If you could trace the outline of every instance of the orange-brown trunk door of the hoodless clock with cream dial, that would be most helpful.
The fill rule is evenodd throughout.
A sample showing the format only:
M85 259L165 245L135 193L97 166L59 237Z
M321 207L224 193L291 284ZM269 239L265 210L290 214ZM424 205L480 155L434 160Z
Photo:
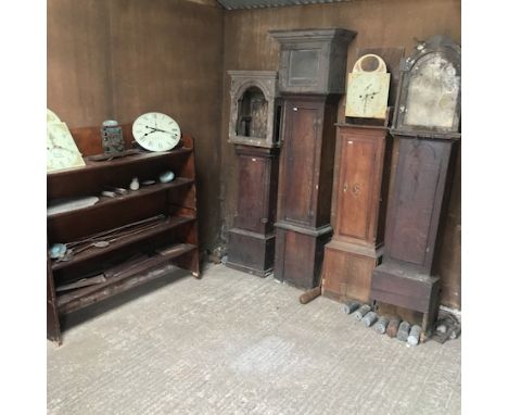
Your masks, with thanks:
M372 141L344 136L343 174L339 187L339 232L367 240L371 222L376 179L376 150Z

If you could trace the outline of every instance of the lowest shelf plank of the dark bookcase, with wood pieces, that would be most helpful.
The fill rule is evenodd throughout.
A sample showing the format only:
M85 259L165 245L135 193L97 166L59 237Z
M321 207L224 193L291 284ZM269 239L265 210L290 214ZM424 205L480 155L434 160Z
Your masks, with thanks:
M73 292L58 295L56 303L59 314L66 314L82 309L109 297L126 291L132 287L144 284L149 280L161 277L161 274L152 274L150 271L160 267L165 263L170 263L178 256L189 253L198 248L193 244L178 243L172 247L172 252L167 254L156 254L150 257L141 257L132 266L124 272L107 277L102 284L74 290ZM145 274L148 273L148 274ZM107 271L104 273L107 275Z

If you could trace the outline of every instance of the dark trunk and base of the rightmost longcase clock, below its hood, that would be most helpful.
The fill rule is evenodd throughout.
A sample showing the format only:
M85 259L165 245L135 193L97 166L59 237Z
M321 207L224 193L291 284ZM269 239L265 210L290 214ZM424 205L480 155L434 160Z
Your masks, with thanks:
M443 232L457 141L394 135L399 142L396 176L383 263L372 273L371 299L423 313L427 331L440 304L434 254Z

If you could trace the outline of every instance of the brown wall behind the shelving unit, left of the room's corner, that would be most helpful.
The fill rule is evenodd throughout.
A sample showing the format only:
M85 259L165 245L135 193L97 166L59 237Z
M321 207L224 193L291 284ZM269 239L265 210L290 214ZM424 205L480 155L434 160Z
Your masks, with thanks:
M69 127L174 117L195 138L203 248L219 227L223 30L199 2L48 0L48 108Z

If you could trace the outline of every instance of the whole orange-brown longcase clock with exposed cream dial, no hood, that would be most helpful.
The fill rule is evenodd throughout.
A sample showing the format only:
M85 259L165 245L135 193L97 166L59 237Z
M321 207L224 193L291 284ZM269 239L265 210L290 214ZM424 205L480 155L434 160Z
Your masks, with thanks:
M366 61L370 61L368 70L361 66ZM336 125L334 232L325 247L321 290L338 300L369 301L372 269L381 261L388 190L383 171L388 171L390 151L385 156L385 150L391 144L384 126L389 80L386 64L379 55L358 59L347 85L347 124Z

